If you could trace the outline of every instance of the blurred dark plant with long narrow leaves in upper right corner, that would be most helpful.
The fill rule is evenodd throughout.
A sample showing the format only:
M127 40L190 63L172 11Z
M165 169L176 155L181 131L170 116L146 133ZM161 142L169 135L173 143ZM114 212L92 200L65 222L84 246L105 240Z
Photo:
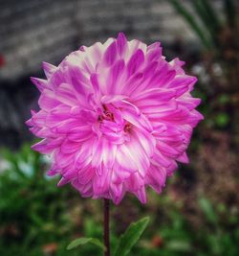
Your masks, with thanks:
M201 60L206 71L203 79L208 76L207 85L210 89L237 92L239 15L236 0L218 1L222 3L221 8L215 8L216 1L209 0L187 1L187 5L182 0L169 2L203 46ZM227 122L224 116L219 117L217 123L225 126Z

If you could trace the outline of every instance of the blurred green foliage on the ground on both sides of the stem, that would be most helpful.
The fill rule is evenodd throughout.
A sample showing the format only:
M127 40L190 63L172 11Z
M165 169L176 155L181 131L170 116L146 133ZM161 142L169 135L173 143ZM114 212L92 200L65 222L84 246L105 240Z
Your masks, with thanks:
M100 255L100 248L91 244L66 250L67 244L80 236L102 239L96 218L101 218L98 201L81 200L70 186L57 188L57 181L44 175L46 159L28 145L15 153L2 151L2 155L6 170L0 173L0 255ZM208 199L199 198L204 224L195 227L182 214L184 205L166 195L150 193L149 197L156 197L158 207L166 209L166 219L151 216L149 228L130 255L239 255L238 219L227 212L223 203L215 207ZM87 208L88 202L96 214L72 213L77 204ZM133 200L132 207L141 208L141 204ZM117 229L118 223L112 220L113 251L119 241Z

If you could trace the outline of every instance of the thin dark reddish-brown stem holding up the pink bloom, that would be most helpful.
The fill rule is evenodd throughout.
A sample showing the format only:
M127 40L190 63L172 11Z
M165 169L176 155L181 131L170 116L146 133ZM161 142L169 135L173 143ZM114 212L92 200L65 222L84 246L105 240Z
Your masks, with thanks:
M104 199L104 256L110 256L110 200Z

